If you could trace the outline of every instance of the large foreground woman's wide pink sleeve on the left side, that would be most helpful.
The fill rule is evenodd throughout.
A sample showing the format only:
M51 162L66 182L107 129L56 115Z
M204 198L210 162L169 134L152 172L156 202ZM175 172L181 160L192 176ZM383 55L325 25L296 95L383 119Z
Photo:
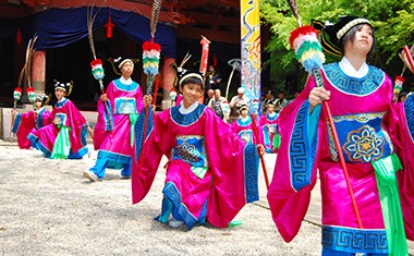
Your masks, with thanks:
M297 99L280 112L281 145L267 199L272 219L284 241L297 234L316 183L317 127L320 106L309 114L308 96L315 86L309 77ZM319 129L320 131L320 129Z

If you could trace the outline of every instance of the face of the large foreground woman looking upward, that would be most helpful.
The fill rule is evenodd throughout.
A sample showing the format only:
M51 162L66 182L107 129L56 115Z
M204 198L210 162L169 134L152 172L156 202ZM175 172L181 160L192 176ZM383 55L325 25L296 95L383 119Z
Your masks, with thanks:
M360 26L355 32L353 40L345 42L345 52L353 51L362 54L368 54L374 44L374 32L368 24Z

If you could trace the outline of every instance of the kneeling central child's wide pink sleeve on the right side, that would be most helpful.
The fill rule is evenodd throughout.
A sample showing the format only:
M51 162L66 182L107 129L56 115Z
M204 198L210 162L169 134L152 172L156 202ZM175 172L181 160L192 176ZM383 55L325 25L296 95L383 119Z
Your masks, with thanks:
M257 148L243 142L210 109L206 109L205 115L206 149L212 174L208 221L226 228L245 204L258 199Z

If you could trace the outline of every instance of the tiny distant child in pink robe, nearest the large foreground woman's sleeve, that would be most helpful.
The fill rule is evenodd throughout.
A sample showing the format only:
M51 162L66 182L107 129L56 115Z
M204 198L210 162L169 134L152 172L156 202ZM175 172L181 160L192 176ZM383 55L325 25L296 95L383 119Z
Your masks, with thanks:
M280 135L278 127L279 114L275 112L276 102L269 100L266 107L266 114L260 117L260 127L263 127L264 145L266 153L278 153Z

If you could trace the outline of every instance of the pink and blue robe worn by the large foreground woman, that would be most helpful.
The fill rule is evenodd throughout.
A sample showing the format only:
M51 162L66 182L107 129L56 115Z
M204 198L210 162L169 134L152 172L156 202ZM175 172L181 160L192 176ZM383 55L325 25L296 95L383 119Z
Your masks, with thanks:
M306 87L281 111L281 145L268 191L272 219L282 237L290 242L299 232L309 206L310 192L319 170L322 199L322 246L348 253L385 253L387 240L376 173L372 164L397 154L403 169L397 172L407 239L414 239L413 97L397 106L392 81L369 66L363 78L345 75L338 63L324 65L322 80L330 90L328 101L343 151L351 186L363 228L351 204L344 172L328 132L321 106L309 114ZM409 113L404 115L403 113Z

